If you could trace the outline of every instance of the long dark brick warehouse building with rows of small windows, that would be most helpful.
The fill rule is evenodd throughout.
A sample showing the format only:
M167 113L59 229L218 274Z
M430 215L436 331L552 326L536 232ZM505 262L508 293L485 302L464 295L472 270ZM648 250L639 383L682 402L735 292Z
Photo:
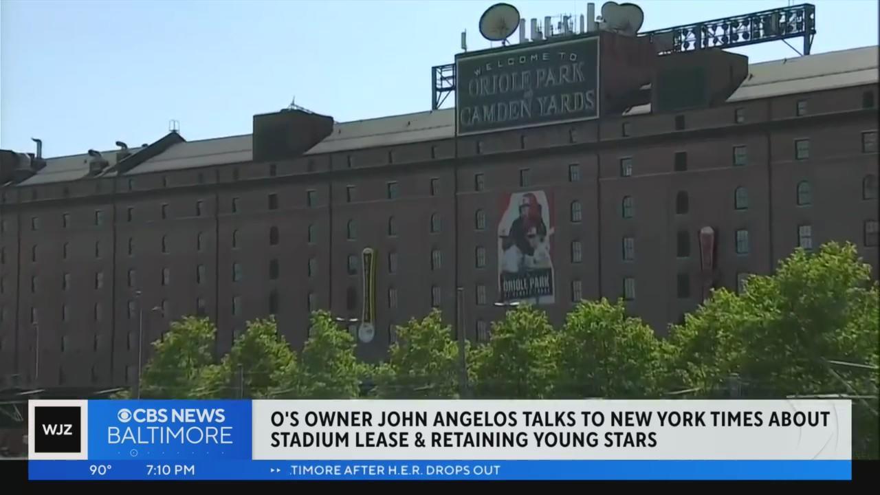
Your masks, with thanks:
M216 321L217 351L268 314L300 348L311 309L363 318L365 247L363 358L432 306L455 321L457 286L466 335L485 339L505 311L502 217L532 191L553 262L553 302L534 300L555 323L576 300L624 297L662 335L704 286L737 288L828 240L855 242L876 276L877 47L744 79L708 106L473 135L457 135L455 109L342 123L290 110L255 116L253 135L0 151L0 386L131 384L139 326L150 342L185 314Z

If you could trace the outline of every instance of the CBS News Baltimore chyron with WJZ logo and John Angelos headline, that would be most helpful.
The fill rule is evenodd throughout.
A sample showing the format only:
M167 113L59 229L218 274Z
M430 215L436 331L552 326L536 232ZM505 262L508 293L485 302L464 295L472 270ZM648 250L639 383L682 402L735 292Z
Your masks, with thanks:
M32 480L848 480L844 400L31 401Z

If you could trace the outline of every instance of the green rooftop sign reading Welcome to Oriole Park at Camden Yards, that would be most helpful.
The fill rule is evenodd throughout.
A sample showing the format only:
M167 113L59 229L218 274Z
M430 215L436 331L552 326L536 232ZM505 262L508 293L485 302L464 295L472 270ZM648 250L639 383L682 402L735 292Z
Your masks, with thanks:
M598 36L456 56L458 134L598 117Z

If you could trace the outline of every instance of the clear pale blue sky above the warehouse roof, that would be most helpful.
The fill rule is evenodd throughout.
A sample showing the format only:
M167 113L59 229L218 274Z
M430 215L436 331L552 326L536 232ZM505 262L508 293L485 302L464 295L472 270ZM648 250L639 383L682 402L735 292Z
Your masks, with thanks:
M586 1L508 0L524 18ZM482 0L2 0L0 147L46 156L246 134L254 114L297 104L337 121L430 109L430 68L451 63ZM597 14L603 2L596 2ZM761 11L787 0L642 0L642 31ZM877 43L876 0L815 0L813 53ZM517 39L517 35L514 36ZM789 41L800 49L799 40ZM736 50L797 56L781 41Z

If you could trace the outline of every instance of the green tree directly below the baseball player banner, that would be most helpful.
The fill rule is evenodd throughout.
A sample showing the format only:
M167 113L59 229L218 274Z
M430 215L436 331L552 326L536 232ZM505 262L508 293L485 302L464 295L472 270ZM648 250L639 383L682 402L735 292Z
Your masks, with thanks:
M474 391L488 398L552 394L557 345L543 311L521 305L492 324L488 344L473 353Z

